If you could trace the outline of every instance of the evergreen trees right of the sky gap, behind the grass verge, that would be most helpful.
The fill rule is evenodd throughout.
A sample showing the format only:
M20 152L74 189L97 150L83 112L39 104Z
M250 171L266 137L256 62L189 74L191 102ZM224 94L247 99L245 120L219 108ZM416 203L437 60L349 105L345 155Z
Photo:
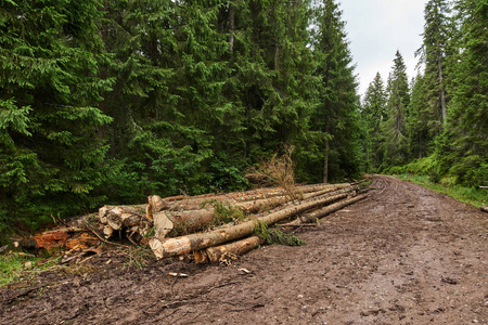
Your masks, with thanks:
M423 46L416 53L424 70L409 94L397 53L388 80L383 170L423 173L434 182L488 185L487 23L486 1L426 3ZM362 108L367 152L376 139L369 117L371 93L369 89Z

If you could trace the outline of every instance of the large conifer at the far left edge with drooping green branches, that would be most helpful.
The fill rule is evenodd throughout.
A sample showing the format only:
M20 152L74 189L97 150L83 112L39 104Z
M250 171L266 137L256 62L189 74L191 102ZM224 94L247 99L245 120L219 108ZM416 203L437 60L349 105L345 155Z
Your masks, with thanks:
M0 223L93 207L107 150L95 131L111 121L100 3L0 1Z

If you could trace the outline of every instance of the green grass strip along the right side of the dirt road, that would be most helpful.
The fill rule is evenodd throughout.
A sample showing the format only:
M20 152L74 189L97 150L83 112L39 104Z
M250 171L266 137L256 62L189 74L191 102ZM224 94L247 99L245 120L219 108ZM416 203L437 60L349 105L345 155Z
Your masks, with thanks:
M447 194L460 202L471 204L475 207L488 205L488 190L463 187L453 184L449 179L445 179L442 183L433 183L428 177L420 174L402 173L395 177L401 180L408 180L415 184L423 185L433 191Z

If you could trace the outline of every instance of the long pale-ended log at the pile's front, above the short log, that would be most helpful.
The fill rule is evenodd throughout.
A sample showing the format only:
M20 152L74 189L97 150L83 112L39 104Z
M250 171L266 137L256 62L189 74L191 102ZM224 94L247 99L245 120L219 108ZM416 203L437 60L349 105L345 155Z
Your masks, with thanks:
M294 205L283 210L270 213L265 217L256 218L241 224L217 229L207 233L190 234L176 238L165 239L153 237L149 240L149 244L157 259L177 255L184 255L191 251L202 250L211 246L246 237L254 232L257 222L265 222L266 224L270 225L298 213L303 213L307 210L323 207L331 202L334 202L335 199L337 199L335 196L321 197L320 199Z

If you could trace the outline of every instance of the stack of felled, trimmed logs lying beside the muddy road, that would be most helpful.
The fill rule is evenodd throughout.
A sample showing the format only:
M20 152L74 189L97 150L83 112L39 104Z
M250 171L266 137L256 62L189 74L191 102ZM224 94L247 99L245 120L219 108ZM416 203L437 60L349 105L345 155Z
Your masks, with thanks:
M158 258L193 253L196 262L217 262L264 244L259 223L297 226L317 222L365 197L357 184L318 184L200 196L149 196L139 206L104 206L98 219L105 238L124 234L149 245ZM227 218L221 218L222 211Z

